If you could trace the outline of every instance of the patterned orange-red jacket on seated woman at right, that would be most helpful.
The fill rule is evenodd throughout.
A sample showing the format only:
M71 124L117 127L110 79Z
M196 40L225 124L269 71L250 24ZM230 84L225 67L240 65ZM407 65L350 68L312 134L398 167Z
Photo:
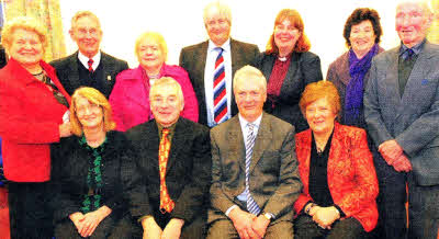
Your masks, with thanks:
M302 212L309 196L311 129L295 135L299 172L303 192L294 203L296 214ZM328 159L328 186L333 201L346 214L354 217L365 231L376 226L375 198L379 187L372 153L365 132L361 128L335 124Z

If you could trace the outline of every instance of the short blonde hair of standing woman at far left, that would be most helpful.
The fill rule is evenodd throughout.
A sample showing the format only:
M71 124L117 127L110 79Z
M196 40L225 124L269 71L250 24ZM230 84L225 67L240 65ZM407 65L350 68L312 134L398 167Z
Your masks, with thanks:
M9 52L9 48L11 47L13 33L18 29L36 33L40 42L43 45L43 50L45 50L47 45L47 36L46 30L43 27L43 25L36 19L30 16L19 16L8 21L1 31L1 44L7 52Z

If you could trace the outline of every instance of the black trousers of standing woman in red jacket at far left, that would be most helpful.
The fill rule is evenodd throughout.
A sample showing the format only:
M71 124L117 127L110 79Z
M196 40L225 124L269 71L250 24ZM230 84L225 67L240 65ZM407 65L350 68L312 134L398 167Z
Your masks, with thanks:
M8 190L11 239L50 239L49 184L9 182Z

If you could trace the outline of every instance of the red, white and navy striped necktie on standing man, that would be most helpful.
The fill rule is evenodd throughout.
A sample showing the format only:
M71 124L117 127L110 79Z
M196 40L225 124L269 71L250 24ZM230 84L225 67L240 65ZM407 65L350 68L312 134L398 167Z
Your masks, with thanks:
M226 79L224 68L223 48L216 47L218 56L215 60L215 70L213 73L213 112L216 124L228 120L227 116L227 95L226 95Z

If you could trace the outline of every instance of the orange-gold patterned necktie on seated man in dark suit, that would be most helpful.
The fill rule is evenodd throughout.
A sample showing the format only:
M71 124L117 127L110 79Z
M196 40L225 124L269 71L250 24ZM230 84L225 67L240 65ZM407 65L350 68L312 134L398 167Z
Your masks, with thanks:
M161 139L158 148L158 166L160 172L160 212L166 214L170 213L176 205L169 196L168 189L166 187L166 166L168 163L168 156L170 150L170 141L168 139L169 128L161 130Z

